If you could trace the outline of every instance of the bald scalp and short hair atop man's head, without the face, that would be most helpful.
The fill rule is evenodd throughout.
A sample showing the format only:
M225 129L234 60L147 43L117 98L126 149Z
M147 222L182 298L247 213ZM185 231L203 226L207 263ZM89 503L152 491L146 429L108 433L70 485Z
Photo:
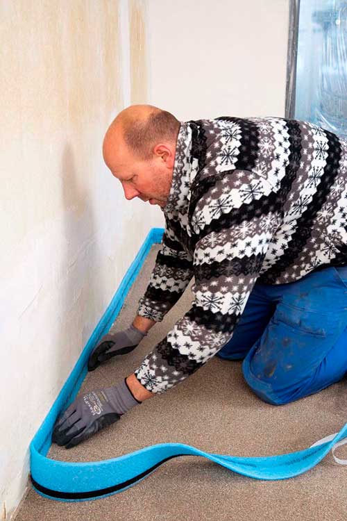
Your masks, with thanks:
M174 115L153 105L131 105L117 115L105 134L107 142L124 142L140 160L150 160L160 142L175 143L180 122Z

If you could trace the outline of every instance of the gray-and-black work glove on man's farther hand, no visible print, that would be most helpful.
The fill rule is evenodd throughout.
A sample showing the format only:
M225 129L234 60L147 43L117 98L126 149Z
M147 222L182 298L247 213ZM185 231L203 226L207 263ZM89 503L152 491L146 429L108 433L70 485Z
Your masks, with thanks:
M112 356L130 353L139 345L146 334L131 325L125 331L104 335L89 357L88 371L94 371L96 367Z

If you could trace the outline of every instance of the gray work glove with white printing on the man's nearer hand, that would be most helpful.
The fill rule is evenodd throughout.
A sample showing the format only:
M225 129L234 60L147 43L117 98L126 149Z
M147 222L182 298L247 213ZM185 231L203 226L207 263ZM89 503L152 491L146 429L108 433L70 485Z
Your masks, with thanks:
M97 389L77 397L53 426L52 441L75 447L104 427L117 422L135 405L142 404L132 394L126 379L118 386Z

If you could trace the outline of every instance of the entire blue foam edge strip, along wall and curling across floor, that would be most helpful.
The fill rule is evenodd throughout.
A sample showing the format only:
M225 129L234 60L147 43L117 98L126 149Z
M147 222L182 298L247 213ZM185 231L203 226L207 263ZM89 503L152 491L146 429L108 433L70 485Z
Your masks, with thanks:
M126 294L141 269L151 245L160 243L163 233L164 229L150 231L135 261L126 272L119 290L78 358L74 370L60 391L56 402L31 442L31 481L33 488L43 497L64 502L108 497L139 483L144 477L152 474L159 465L176 456L204 456L229 470L255 479L287 479L310 470L328 454L338 440L347 437L346 423L330 442L298 452L275 456L244 457L209 454L182 443L162 443L102 461L80 463L46 458L51 446L51 433L56 417L78 394L87 373L87 360L90 352L99 338L109 331L110 326L115 322ZM69 496L72 499L69 499Z

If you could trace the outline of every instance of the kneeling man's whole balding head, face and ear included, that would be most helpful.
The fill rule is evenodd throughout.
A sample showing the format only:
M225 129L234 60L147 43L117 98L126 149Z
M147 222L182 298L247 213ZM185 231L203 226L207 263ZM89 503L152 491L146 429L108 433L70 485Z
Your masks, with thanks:
M126 199L139 197L164 208L179 131L176 117L152 105L132 105L113 120L103 140L103 159Z

